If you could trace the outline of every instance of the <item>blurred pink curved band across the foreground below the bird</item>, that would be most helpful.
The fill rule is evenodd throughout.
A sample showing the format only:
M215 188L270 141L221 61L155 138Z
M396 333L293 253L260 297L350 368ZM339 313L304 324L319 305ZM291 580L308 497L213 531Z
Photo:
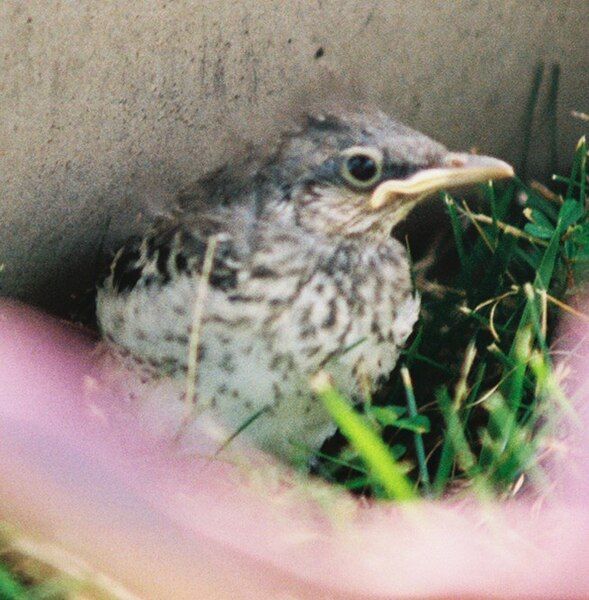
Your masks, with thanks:
M363 506L278 465L258 483L155 447L83 393L94 345L0 307L0 520L138 596L589 597L586 410L541 507Z

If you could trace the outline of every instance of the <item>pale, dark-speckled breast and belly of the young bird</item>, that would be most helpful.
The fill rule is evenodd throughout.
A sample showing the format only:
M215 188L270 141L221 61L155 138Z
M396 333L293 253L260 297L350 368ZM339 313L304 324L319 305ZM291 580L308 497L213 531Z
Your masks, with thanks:
M316 448L333 433L310 390L315 373L326 370L358 397L395 366L419 309L395 244L319 252L286 241L278 251L273 243L238 273L235 287L208 289L200 323L198 276L125 293L107 286L98 297L101 328L133 368L178 382L169 401L176 407L196 331L198 402L227 435L255 417L248 435L290 457L297 444Z

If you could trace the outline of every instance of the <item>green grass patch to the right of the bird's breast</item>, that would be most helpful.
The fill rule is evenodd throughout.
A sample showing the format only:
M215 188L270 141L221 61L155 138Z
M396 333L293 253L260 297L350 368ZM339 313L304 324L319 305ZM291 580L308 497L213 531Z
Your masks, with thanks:
M342 432L318 455L320 475L398 500L542 488L553 416L572 410L551 352L556 326L565 312L589 321L574 304L589 266L584 139L553 184L489 183L476 209L444 194L450 239L433 268L416 264L422 317L390 385L355 407L320 390Z

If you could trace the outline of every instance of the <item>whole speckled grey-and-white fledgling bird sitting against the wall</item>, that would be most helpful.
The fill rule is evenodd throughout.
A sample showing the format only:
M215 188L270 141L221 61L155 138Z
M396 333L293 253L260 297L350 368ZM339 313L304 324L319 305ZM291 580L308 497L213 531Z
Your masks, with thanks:
M361 400L418 319L392 229L436 192L512 176L502 160L452 152L379 110L307 114L124 243L98 287L99 329L142 381L186 390L192 377L197 414L228 439L239 432L300 462L336 429L311 379L327 373ZM178 407L186 393L160 402Z

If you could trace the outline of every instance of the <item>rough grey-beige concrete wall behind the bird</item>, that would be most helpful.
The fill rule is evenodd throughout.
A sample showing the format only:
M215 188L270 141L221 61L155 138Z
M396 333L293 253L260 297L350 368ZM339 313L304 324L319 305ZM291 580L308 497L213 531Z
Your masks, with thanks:
M588 18L564 0L3 0L2 293L59 306L102 238L325 90L517 163L534 70L558 64L556 139L546 77L531 172L555 151L564 167L586 125L569 113L589 109Z

